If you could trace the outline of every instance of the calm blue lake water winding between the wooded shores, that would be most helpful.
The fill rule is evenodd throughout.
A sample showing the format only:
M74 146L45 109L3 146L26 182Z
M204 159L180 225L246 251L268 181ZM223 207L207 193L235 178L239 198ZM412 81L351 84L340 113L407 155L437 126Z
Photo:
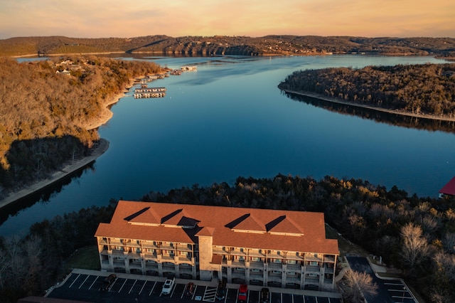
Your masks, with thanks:
M100 127L110 147L93 169L49 201L9 216L0 235L22 233L34 222L83 207L107 205L109 198L137 200L149 191L232 183L237 176L331 175L436 197L455 175L453 133L341 115L291 100L277 88L294 70L441 60L351 55L147 60L169 68L197 64L198 71L150 83L167 88L164 98L123 97L112 107L114 117Z

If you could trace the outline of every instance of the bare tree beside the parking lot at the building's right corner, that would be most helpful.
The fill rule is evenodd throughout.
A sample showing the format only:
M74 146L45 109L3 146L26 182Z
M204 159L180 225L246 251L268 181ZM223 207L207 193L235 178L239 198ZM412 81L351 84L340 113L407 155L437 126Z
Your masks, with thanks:
M365 297L373 297L378 294L378 285L366 272L348 270L344 277L343 281L346 282L346 285L343 287L343 299L346 302L365 302Z

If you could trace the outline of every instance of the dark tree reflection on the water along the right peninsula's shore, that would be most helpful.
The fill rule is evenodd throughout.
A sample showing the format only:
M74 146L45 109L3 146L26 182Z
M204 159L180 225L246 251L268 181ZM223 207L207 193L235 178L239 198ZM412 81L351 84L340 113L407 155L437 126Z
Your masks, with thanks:
M363 119L374 120L375 122L390 124L399 127L406 127L411 129L424 129L432 132L441 131L448 133L455 133L455 122L444 121L436 119L426 119L420 117L410 117L405 115L397 115L389 112L379 112L377 110L370 110L364 107L355 107L352 105L343 105L335 102L328 102L314 97L296 95L291 92L283 92L284 95L291 100L304 102L308 105L321 107L324 110L331 112L338 112L343 115L350 115L361 117Z

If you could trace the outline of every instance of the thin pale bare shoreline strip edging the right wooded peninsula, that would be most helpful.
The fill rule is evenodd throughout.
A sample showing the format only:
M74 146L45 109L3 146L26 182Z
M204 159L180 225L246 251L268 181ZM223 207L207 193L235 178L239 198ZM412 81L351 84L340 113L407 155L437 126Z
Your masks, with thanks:
M441 120L441 121L449 121L449 122L455 122L455 118L450 118L450 117L444 117L444 116L436 116L436 115L426 115L426 114L413 114L412 112L406 112L404 110L388 110L387 108L383 107L374 107L370 105L363 105L360 103L355 103L355 102L349 102L349 101L344 101L335 97L327 97L324 95L317 94L316 92L299 92L296 90L287 90L287 89L282 89L280 90L284 92L289 92L294 95L301 95L305 97L313 97L319 100L327 101L327 102L333 102L333 103L338 103L342 105L350 105L350 106L355 106L355 107L362 107L366 108L368 110L375 110L378 112L387 112L389 114L395 114L395 115L402 115L402 116L407 116L407 117L415 117L415 118L422 118L422 119L433 119L433 120Z

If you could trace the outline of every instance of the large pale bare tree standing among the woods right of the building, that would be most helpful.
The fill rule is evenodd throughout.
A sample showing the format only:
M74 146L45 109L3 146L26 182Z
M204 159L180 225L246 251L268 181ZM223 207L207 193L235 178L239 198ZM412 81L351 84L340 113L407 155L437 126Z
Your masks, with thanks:
M429 255L430 246L423 236L422 228L414 223L407 223L400 230L402 237L401 257L405 265L414 270Z

